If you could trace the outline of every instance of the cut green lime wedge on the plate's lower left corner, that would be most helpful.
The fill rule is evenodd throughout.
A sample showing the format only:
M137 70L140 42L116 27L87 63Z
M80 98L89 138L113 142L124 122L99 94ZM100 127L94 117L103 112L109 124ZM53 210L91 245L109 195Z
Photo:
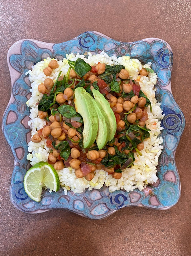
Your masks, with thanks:
M60 187L57 171L45 162L31 167L25 174L23 183L25 192L36 202L40 202L43 187L49 188L49 192L58 191Z

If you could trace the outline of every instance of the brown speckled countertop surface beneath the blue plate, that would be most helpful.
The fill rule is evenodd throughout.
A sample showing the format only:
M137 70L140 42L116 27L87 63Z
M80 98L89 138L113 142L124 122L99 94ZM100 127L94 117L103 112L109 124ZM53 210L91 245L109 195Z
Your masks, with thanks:
M186 128L176 151L182 193L169 210L126 207L103 220L89 220L66 210L26 214L9 199L13 155L1 134L0 255L190 256L191 5L187 0L2 0L0 4L0 117L11 95L6 62L20 39L59 43L95 30L115 40L161 38L174 56L172 93L185 114Z

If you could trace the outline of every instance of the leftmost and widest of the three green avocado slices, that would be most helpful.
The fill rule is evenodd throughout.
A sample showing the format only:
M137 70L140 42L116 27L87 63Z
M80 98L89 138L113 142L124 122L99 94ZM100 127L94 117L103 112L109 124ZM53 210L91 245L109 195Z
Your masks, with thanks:
M83 118L83 148L89 148L96 139L98 129L98 119L92 96L83 87L78 87L74 91L74 104L76 112Z

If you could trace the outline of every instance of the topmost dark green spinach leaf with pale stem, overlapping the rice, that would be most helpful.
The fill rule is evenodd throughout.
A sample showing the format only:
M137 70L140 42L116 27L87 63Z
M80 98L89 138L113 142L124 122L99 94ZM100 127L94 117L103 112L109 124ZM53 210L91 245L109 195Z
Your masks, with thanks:
M86 63L83 59L78 58L76 61L69 60L68 64L75 70L78 76L82 77L91 70L91 66Z

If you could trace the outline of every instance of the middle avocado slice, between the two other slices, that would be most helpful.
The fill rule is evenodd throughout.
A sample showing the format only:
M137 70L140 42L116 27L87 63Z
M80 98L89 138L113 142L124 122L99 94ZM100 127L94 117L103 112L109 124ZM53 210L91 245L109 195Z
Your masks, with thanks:
M97 147L99 149L102 149L105 147L106 143L108 142L109 135L110 135L109 119L106 113L103 111L101 104L95 99L92 99L92 100L93 100L94 107L97 112L97 118L98 118L98 130L97 130L96 143L97 143Z

